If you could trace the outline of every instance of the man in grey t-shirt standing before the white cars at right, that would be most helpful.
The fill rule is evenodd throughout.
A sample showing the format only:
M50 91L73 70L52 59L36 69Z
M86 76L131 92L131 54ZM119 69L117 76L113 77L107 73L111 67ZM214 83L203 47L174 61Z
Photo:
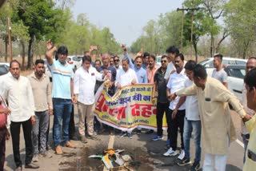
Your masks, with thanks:
M218 79L218 81L222 82L223 85L227 88L227 74L226 71L222 69L222 54L214 55L214 71L212 74L212 78Z

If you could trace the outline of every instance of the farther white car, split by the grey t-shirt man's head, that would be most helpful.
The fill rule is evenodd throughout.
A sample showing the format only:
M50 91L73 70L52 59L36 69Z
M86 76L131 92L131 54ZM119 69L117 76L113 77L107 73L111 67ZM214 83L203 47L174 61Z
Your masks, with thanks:
M246 66L246 59L239 59L239 58L222 58L222 66L227 65L244 65ZM206 58L204 61L199 62L202 66L206 68L207 75L211 77L214 70L214 58Z

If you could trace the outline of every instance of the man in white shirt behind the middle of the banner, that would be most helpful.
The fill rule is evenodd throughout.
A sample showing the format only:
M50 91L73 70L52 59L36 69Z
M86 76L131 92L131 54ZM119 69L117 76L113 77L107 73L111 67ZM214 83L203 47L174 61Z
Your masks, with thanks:
M130 60L129 58L123 58L122 59L122 70L120 70L117 80L116 80L116 85L118 89L122 89L123 86L126 85L134 85L138 83L138 78L134 70L130 69ZM128 136L129 138L132 138L132 133L131 131L122 132L118 137L125 137Z

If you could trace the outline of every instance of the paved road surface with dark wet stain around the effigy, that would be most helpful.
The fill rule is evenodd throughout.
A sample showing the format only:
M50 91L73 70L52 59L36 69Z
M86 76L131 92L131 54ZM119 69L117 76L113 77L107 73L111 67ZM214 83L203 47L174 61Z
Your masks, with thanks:
M241 141L240 132L240 119L238 115L234 112L231 113L234 125L237 129L238 140ZM52 121L53 118L51 118ZM78 115L76 115L75 120L78 121ZM51 124L52 125L52 124ZM87 144L82 144L80 141L72 141L77 145L77 149L63 148L64 154L62 156L55 155L52 158L39 158L38 165L43 171L55 171L55 170L103 170L103 164L98 159L89 159L88 156L95 153L102 153L103 149L107 149L108 146L114 149L125 149L123 154L129 154L134 161L131 163L134 170L188 170L189 167L180 167L175 165L177 157L163 157L162 153L166 152L165 141L151 141L152 135L146 135L142 133L140 136L134 135L133 139L128 139L128 137L119 138L115 136L110 136L108 133L103 133L98 135L98 140L89 140ZM50 132L50 137L52 133ZM166 133L165 133L166 140ZM6 170L14 170L14 158L12 154L11 140L6 143ZM240 143L241 144L241 143ZM52 139L50 138L50 145L52 145ZM179 145L179 141L178 141ZM191 141L191 155L194 159L194 143ZM20 149L22 151L22 161L25 158L25 149L23 136L21 134L21 145ZM50 149L51 153L54 153ZM202 154L204 152L202 151ZM242 155L243 148L238 142L234 141L230 145L230 153L228 157L228 163L226 170L237 171L242 170ZM81 161L77 160L81 156ZM203 155L202 155L203 160ZM77 166L78 165L78 166ZM80 169L78 169L80 168ZM26 169L23 169L26 170Z

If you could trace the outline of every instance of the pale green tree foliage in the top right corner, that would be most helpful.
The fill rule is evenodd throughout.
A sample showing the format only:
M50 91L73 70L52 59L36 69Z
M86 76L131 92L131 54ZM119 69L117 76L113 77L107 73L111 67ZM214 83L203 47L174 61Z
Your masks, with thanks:
M235 50L246 58L256 38L256 8L254 0L230 0L226 5L225 22L234 41Z

